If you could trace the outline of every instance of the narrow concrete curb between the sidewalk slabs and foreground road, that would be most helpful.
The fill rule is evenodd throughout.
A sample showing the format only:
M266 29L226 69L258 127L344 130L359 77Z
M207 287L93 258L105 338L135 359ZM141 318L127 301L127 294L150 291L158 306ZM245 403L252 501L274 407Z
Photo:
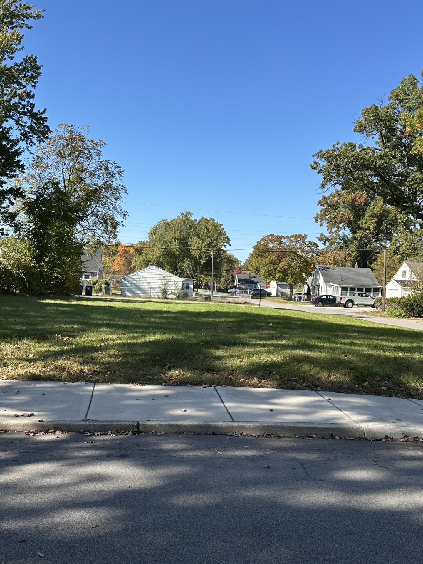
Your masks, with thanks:
M39 429L60 429L80 433L81 431L139 431L141 433L199 433L228 434L245 433L247 435L281 435L284 437L357 437L362 439L381 439L390 437L401 439L404 434L423 438L423 427L407 427L384 424L339 425L331 423L298 423L267 421L25 421L0 420L0 429L6 431L30 431Z

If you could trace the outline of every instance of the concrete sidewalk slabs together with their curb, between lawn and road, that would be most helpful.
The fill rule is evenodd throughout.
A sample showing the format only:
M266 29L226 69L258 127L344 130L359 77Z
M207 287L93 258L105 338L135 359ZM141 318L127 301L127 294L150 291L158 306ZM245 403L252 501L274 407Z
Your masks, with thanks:
M54 427L423 438L423 400L226 386L0 380L0 429Z

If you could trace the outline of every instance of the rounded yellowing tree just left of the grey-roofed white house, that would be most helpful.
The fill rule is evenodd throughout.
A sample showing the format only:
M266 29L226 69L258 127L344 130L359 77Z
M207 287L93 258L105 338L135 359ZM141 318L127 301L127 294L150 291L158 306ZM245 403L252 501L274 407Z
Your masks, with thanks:
M316 264L319 245L307 235L265 235L253 247L251 267L264 280L283 281L289 285L303 284Z

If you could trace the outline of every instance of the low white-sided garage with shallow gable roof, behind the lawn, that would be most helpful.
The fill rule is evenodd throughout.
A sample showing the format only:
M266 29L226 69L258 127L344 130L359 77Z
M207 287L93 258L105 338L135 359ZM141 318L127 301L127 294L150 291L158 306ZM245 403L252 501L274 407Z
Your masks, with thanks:
M131 274L123 276L121 280L122 296L161 298L165 289L169 298L182 289L187 291L188 296L192 296L194 281L192 278L180 278L152 265L143 268L143 270L131 272Z

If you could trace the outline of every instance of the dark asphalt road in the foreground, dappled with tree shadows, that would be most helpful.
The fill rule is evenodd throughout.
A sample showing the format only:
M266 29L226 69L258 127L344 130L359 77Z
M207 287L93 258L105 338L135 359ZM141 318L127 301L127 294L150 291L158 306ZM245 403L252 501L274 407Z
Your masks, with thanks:
M420 563L422 462L411 443L7 433L0 562Z

